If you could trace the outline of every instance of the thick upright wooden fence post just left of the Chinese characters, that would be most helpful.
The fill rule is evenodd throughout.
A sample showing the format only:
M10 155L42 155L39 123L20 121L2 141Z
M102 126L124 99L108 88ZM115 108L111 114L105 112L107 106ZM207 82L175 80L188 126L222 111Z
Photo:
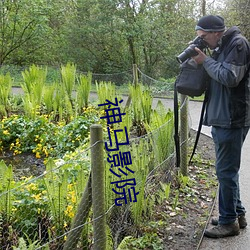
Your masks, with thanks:
M105 183L103 130L90 127L94 250L106 249Z

